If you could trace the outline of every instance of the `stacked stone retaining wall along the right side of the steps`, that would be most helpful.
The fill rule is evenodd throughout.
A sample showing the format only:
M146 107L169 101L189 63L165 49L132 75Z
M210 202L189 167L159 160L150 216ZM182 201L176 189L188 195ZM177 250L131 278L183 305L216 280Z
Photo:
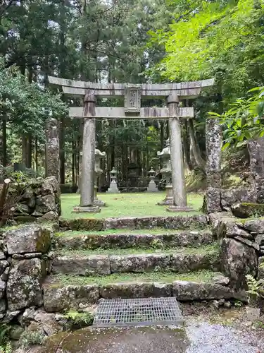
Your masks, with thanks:
M246 286L246 275L264 280L258 264L264 261L264 219L239 220L216 213L210 215L213 234L220 239L222 273L234 289Z

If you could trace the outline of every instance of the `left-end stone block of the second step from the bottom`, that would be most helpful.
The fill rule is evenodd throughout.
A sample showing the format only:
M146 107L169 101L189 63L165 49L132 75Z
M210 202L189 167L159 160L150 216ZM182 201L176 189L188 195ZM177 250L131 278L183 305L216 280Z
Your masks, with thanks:
M56 256L52 265L53 273L65 275L110 275L108 256Z

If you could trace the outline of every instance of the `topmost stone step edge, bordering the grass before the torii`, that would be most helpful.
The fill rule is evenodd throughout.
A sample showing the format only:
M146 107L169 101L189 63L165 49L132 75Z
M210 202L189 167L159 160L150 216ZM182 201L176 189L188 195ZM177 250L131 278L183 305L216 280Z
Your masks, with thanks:
M105 229L204 229L208 227L206 215L176 215L165 217L120 217L120 218L61 218L59 225L65 230L105 230Z

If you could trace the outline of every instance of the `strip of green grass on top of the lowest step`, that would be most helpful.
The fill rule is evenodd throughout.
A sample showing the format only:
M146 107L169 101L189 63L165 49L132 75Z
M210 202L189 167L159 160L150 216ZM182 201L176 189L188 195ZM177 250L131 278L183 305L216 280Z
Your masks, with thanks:
M122 282L161 282L172 283L177 280L190 282L210 282L215 273L209 270L201 270L191 273L176 274L172 272L149 272L149 273L114 273L103 277L82 277L71 275L54 275L48 278L45 285L63 286L63 285L109 285Z

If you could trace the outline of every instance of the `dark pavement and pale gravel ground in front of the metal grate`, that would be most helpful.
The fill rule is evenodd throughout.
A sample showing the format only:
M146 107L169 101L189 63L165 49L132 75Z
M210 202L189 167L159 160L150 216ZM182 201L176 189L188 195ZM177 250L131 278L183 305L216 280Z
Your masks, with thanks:
M85 328L49 339L39 353L264 353L264 330L188 317L181 328Z

